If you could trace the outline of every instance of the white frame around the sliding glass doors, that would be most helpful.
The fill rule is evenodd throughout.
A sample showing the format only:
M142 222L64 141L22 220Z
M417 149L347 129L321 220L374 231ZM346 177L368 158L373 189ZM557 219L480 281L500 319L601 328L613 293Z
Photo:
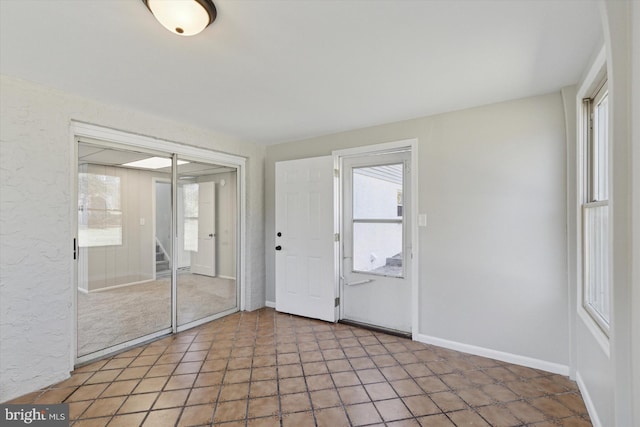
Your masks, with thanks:
M90 355L79 358L78 357L78 341L77 341L77 311L78 311L78 298L77 298L77 288L78 288L78 274L77 274L77 256L79 253L79 248L77 246L78 242L78 203L77 200L74 200L74 197L78 194L78 141L81 139L88 140L96 140L97 142L102 143L105 146L114 146L120 148L132 148L132 149L143 149L150 152L164 152L172 154L174 164L177 162L178 156L181 157L190 157L194 159L201 160L203 162L215 163L222 166L227 166L236 169L236 200L237 200L237 212L236 212L236 301L238 301L238 310L243 311L245 309L245 301L246 301L246 288L244 283L244 277L246 276L246 263L245 263L245 251L246 251L246 162L247 159L245 157L235 156L232 154L222 153L218 151L207 150L204 148L198 148L190 145L184 145L178 142L172 142L164 139L154 138L151 136L138 135L130 132L125 132L117 129L111 129L104 126L98 126L90 123L80 122L72 120L69 124L69 135L70 141L69 144L71 146L72 156L70 160L70 187L71 187L71 203L70 207L70 218L71 218L71 237L74 256L71 257L70 260L70 268L73 279L73 297L72 297L72 313L70 323L71 323L71 348L73 351L70 354L70 370L73 370L74 367L79 363L85 363L91 360L95 360L99 357L103 357L107 354L113 353L114 351L119 351L121 349L128 348L130 346L134 346L136 344L140 344L142 342L148 341L150 339L154 339L168 333L177 333L183 330L196 327L205 322L209 322L218 317L226 316L231 314L233 311L227 310L225 312L219 313L218 315L214 315L211 317L207 317L205 319L201 319L187 325L182 325L178 327L177 325L177 309L176 305L172 303L172 326L170 329L158 331L156 333L147 335L142 338L138 338L132 341L128 341L126 343L122 343L116 345L114 347L110 347L108 350L101 350ZM177 182L177 170L173 168L172 173L172 182ZM177 188L173 186L172 189L172 199L175 201L177 195ZM176 228L176 214L177 214L177 204L172 203L172 234L175 234ZM172 250L172 265L175 266L175 258L176 251ZM175 293L176 293L176 269L172 269L172 300L175 301Z

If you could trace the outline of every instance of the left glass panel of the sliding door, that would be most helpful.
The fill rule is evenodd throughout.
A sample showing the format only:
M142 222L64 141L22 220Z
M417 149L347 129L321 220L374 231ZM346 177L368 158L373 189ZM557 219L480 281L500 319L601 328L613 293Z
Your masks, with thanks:
M170 158L78 145L79 357L171 327L170 230Z

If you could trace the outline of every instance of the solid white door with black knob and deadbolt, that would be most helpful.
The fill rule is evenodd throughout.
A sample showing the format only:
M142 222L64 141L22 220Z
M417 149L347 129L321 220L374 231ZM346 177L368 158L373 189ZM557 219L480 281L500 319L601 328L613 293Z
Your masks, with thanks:
M333 158L276 163L276 310L334 322Z

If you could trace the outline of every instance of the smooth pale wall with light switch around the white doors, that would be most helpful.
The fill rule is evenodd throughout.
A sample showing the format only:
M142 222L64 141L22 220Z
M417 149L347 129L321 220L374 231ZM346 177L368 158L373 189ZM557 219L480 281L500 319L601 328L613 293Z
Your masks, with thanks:
M559 93L268 147L267 300L275 298L275 162L409 138L419 140L418 211L428 214L418 333L568 372Z

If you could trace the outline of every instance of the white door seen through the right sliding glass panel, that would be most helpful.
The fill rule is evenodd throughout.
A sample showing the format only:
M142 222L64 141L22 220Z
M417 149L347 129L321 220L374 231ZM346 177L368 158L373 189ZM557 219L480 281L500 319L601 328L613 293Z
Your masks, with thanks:
M191 272L216 275L216 187L198 183L198 250L191 252Z

